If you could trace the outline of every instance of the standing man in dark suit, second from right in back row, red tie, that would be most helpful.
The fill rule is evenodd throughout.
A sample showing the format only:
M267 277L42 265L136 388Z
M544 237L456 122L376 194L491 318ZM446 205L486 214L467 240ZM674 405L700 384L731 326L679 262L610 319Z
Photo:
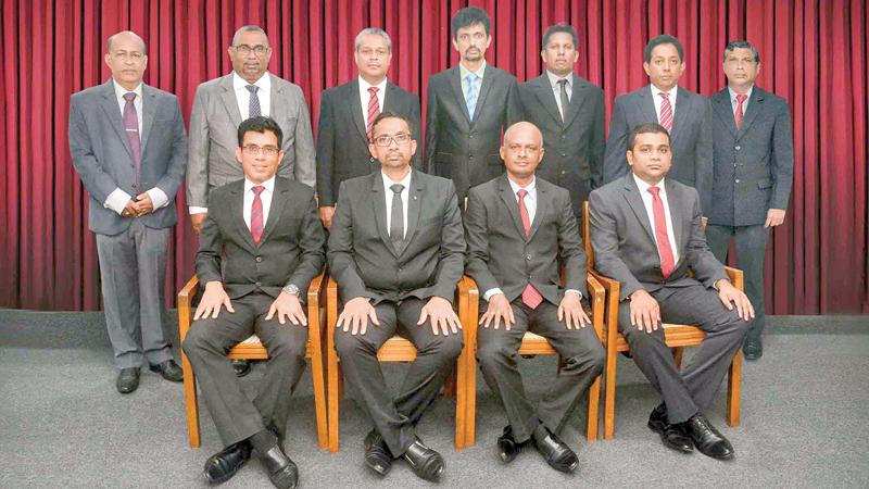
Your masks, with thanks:
M679 39L660 35L645 46L643 70L651 84L616 98L606 141L604 181L620 180L630 173L625 153L631 128L657 122L670 135L672 172L669 177L694 187L701 210L711 205L713 133L711 110L705 97L680 87L684 72L684 50Z

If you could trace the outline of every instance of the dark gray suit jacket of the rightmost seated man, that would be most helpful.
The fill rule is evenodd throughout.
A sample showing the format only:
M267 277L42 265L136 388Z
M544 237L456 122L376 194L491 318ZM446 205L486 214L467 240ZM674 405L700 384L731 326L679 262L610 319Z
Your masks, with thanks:
M706 244L697 191L672 178L664 180L664 188L679 250L679 262L667 278L660 272L654 228L633 174L604 185L589 197L594 269L621 284L620 300L638 289L655 292L697 280L713 287L727 278L723 265ZM693 278L688 276L689 269L693 271Z

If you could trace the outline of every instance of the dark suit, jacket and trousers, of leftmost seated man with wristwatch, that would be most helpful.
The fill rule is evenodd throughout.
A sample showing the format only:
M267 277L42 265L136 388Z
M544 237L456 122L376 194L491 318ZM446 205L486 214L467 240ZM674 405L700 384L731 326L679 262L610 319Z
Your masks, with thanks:
M212 192L211 208L199 236L197 275L204 287L223 283L235 313L193 323L184 351L224 446L267 427L282 439L290 396L305 367L307 328L265 321L272 302L288 284L302 301L325 262L325 235L311 187L278 177L262 239L253 243L243 218L244 180ZM255 334L269 360L253 401L248 399L226 353Z

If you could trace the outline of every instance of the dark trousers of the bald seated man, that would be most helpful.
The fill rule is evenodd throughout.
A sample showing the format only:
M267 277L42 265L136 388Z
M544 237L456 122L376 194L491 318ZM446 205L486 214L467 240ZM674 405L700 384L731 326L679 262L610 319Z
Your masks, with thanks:
M507 330L503 323L477 328L477 360L486 384L504 403L507 421L518 442L528 440L541 423L551 431L559 431L579 397L603 369L605 353L601 340L589 325L581 329L567 329L557 318L558 308L543 301L536 310L517 298L511 304L516 323ZM484 312L487 304L480 304ZM525 393L518 367L518 350L526 331L540 335L558 352L562 369L534 409Z

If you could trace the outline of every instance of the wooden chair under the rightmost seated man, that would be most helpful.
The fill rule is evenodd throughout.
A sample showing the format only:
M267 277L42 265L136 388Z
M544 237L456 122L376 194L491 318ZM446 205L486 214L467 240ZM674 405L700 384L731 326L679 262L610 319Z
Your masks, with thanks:
M704 226L706 225L704 218ZM591 230L589 228L589 203L582 204L582 241L590 263L594 263L594 252L591 247ZM725 267L730 281L740 290L744 289L743 273L740 269ZM620 285L617 280L605 277L589 267L589 275L594 276L606 289L606 321L604 322L604 347L606 348L606 366L604 368L604 439L608 440L616 431L616 355L619 352L630 351L628 341L618 333L618 304ZM668 347L673 350L676 366L682 365L682 351L684 347L693 347L703 342L706 334L697 326L667 324L664 325L664 338ZM742 351L736 350L733 362L730 364L727 383L727 424L740 425L740 385L742 379Z

